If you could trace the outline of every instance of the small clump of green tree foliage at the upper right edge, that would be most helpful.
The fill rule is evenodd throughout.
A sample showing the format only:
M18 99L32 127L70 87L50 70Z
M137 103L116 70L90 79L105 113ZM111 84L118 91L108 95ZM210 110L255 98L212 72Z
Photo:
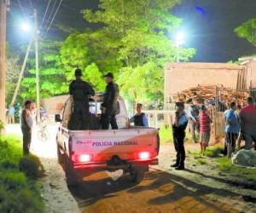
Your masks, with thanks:
M253 43L256 47L256 19L247 20L236 27L236 35L241 38L246 38L249 43Z

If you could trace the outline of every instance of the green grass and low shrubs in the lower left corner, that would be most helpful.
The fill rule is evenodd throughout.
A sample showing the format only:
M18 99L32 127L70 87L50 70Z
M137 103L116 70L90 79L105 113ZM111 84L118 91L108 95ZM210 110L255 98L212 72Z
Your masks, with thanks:
M36 156L23 157L19 138L0 137L0 212L43 212L37 182L42 172Z

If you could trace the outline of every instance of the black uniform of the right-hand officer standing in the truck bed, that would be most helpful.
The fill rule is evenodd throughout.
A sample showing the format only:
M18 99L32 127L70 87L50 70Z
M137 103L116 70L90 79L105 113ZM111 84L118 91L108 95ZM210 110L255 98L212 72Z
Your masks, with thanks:
M115 119L115 115L119 110L118 96L118 84L108 83L102 103L102 107L106 109L105 112L102 112L102 130L108 130L109 124L111 124L112 130L118 130L118 124Z

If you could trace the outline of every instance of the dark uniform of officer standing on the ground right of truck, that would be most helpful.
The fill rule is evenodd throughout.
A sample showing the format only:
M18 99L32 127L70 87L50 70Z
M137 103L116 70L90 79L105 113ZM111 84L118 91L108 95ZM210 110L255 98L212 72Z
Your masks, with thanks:
M177 119L181 119L182 117L187 117L185 113L180 115ZM188 124L188 120L183 124L179 124L178 126L174 124L172 126L173 137L174 137L174 147L177 152L176 155L176 166L184 168L185 161L185 148L184 148L184 138L185 138L185 130Z

